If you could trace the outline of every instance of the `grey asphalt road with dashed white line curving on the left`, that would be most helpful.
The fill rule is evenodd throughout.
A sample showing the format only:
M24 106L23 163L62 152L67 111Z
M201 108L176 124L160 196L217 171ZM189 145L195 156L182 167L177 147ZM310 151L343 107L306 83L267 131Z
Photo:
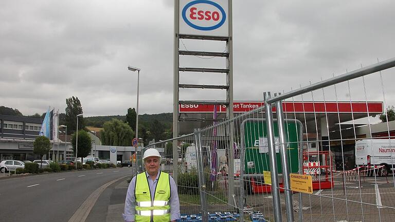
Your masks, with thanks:
M67 222L103 184L132 168L71 171L0 180L0 221Z

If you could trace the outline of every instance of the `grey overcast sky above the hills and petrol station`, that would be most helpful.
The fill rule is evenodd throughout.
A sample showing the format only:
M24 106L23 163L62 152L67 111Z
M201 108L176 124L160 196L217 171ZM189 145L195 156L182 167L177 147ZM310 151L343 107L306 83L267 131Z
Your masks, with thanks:
M262 100L395 57L395 1L233 2L234 99ZM64 112L77 96L84 116L173 111L173 1L1 1L0 105L24 115L48 106ZM188 50L224 45L183 41ZM185 58L181 66L224 67L223 60ZM392 78L382 72L386 105L395 105ZM183 83L223 84L216 74L180 76ZM367 99L383 101L378 73L365 79ZM343 89L341 89L343 87ZM374 89L374 90L373 90ZM322 100L322 91L304 100ZM320 94L320 96L319 96ZM338 94L338 95L337 95ZM325 91L327 100L365 100L363 81ZM221 100L224 91L181 90L181 99ZM315 95L315 94L314 94Z

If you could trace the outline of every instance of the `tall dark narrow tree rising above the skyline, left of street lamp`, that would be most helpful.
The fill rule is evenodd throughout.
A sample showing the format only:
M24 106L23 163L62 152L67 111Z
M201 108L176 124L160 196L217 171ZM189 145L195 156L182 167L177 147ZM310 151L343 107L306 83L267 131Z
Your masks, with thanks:
M77 115L82 114L82 106L81 102L78 97L70 97L66 99L66 116L65 116L65 123L67 125L67 130L70 133L76 131L77 127ZM85 128L85 122L82 117L78 119L78 130Z

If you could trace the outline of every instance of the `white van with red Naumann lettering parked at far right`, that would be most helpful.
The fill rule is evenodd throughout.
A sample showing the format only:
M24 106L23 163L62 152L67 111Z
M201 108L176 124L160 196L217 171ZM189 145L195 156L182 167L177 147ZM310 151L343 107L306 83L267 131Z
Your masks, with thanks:
M363 139L355 142L355 164L385 165L381 173L387 175L395 165L395 139Z

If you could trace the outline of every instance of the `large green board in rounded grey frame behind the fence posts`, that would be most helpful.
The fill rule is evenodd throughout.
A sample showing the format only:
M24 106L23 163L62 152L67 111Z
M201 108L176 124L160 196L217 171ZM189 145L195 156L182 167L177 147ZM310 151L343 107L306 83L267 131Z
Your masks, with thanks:
M299 171L298 147L302 141L302 123L295 119L285 119L285 137L287 156L291 173ZM263 174L270 171L269 153L267 147L267 131L265 119L246 119L242 122L242 144L244 152L244 174ZM275 143L279 143L277 120L273 121ZM259 145L261 144L261 145ZM279 145L277 150L280 149ZM277 172L282 173L281 155L276 152Z

